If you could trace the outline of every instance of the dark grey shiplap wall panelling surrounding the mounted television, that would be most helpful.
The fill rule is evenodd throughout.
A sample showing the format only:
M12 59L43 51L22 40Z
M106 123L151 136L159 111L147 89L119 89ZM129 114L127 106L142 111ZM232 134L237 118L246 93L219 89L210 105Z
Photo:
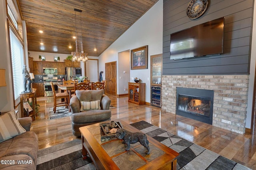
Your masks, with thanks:
M164 0L163 75L249 74L253 0L209 0L203 16L190 20L190 0ZM170 59L170 34L225 17L223 54L180 60Z

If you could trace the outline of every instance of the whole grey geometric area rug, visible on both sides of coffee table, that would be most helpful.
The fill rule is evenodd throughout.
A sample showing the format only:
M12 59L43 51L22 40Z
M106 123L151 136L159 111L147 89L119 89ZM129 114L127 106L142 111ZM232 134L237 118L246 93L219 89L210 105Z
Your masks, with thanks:
M133 127L180 153L177 170L250 170L246 166L224 158L206 148L193 144L145 121L131 124ZM95 170L92 160L82 159L81 139L72 140L38 150L37 169Z

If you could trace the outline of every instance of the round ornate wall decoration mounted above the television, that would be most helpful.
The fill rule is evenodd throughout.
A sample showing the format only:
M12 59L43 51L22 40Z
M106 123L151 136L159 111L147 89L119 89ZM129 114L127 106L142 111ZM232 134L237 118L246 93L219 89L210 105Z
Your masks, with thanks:
M208 6L208 0L192 0L188 4L187 16L194 20L204 14Z

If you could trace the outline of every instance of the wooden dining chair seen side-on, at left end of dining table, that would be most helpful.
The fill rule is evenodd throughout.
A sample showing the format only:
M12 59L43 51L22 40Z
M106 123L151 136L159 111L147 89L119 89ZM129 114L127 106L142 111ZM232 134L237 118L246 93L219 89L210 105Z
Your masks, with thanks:
M51 87L52 87L53 99L54 99L54 107L53 107L54 113L56 113L56 107L66 106L66 108L68 108L69 94L67 92L56 93L52 82L51 82ZM63 99L63 98L65 99L64 102L61 101L61 102L57 103L57 99Z

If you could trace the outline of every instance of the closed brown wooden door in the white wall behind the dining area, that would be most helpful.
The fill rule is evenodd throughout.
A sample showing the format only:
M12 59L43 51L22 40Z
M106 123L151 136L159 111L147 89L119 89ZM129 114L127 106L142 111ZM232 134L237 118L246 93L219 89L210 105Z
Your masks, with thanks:
M106 93L116 95L116 61L105 63Z

